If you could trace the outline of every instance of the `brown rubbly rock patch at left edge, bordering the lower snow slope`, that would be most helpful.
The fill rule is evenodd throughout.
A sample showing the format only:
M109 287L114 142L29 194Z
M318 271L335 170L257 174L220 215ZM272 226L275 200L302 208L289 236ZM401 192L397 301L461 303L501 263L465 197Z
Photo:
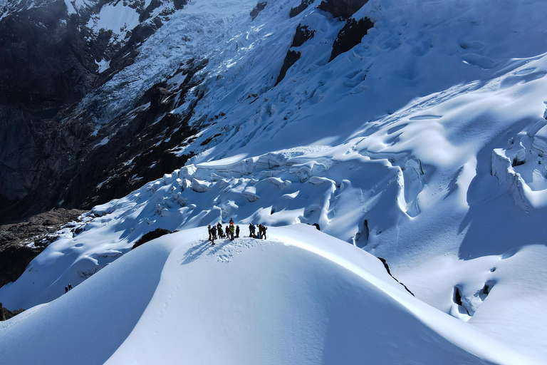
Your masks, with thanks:
M0 226L0 287L14 282L27 265L58 237L55 232L84 210L53 210L25 222Z

